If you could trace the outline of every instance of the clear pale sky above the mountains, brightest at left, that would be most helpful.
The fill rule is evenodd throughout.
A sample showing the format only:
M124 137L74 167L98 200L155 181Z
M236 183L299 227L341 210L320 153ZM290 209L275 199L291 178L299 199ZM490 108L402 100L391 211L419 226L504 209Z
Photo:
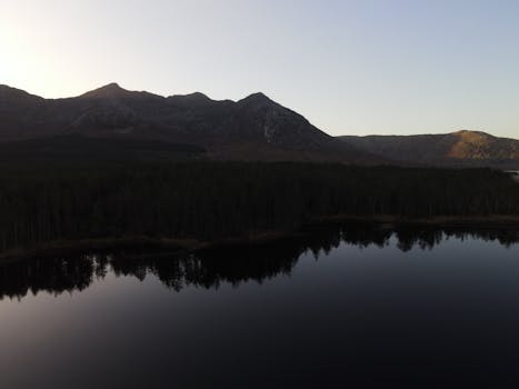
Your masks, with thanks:
M330 134L519 138L516 0L0 0L0 83L262 91Z

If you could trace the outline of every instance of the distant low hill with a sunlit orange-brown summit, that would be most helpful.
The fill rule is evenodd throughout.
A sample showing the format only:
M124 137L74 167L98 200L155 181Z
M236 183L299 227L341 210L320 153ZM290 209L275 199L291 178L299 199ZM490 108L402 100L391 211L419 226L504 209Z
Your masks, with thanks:
M519 169L519 140L479 131L445 134L339 137L343 142L398 162Z

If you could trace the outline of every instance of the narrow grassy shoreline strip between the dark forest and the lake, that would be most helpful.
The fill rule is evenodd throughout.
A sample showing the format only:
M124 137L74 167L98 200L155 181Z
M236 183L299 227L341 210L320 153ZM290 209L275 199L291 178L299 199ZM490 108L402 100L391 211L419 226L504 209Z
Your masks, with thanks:
M290 238L305 238L312 229L327 225L369 223L378 228L396 229L398 227L433 227L433 228L517 228L517 216L479 216L479 217L433 217L433 218L402 218L390 215L361 217L351 215L336 215L315 219L293 230L266 231L247 237L226 238L216 241L197 239L169 239L150 237L99 238L81 240L50 241L32 248L17 248L0 253L0 262L31 259L34 257L70 256L84 251L108 251L123 249L168 250L168 255L188 253L224 247L268 245ZM307 230L307 231L306 231Z

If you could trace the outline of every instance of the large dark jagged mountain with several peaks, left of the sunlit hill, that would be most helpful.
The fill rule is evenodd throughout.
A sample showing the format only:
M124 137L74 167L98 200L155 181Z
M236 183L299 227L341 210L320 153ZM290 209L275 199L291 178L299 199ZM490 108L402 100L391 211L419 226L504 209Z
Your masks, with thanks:
M70 141L71 134L191 144L211 159L383 162L262 93L217 101L200 92L161 97L110 83L76 98L43 99L0 86L0 143Z

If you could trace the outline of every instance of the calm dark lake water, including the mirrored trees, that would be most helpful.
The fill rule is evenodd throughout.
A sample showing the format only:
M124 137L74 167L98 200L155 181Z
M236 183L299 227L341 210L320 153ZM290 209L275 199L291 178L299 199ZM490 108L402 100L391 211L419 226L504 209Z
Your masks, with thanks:
M519 232L0 265L0 388L517 388Z

